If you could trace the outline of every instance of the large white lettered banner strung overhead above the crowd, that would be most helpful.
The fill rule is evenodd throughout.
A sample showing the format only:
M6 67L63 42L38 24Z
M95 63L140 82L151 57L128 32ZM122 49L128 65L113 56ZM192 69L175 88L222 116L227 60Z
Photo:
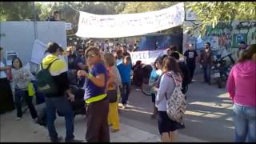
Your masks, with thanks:
M99 15L80 11L78 32L82 38L122 38L154 33L184 22L184 3L169 8L139 13Z

